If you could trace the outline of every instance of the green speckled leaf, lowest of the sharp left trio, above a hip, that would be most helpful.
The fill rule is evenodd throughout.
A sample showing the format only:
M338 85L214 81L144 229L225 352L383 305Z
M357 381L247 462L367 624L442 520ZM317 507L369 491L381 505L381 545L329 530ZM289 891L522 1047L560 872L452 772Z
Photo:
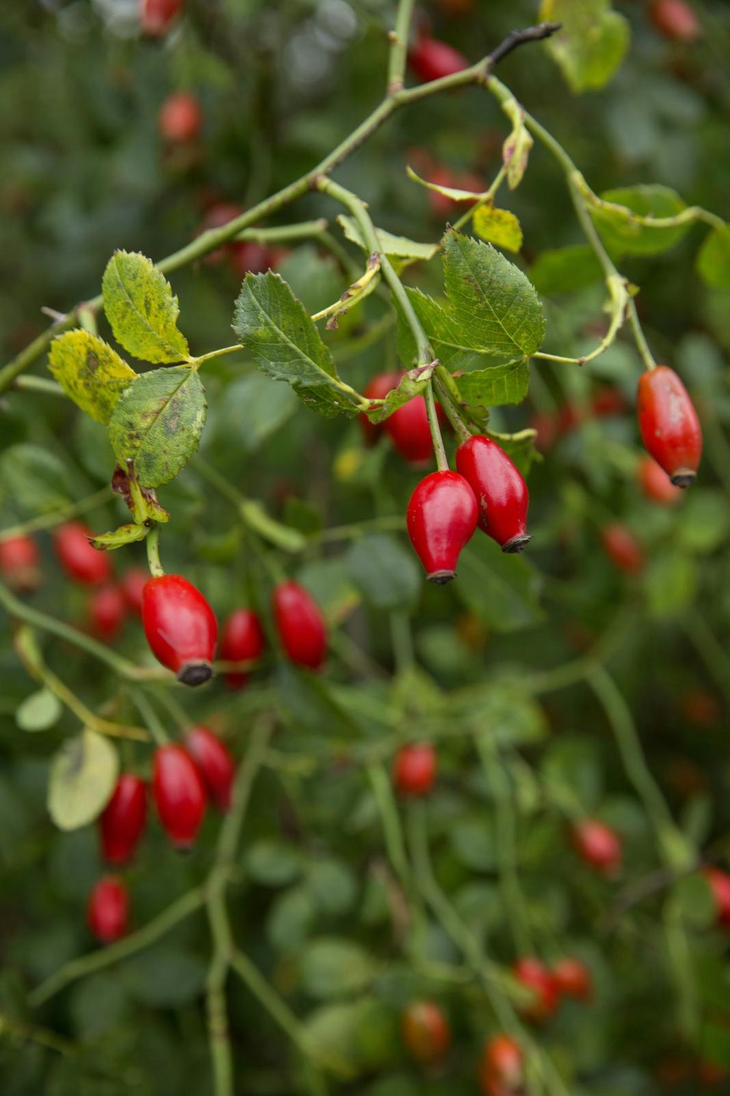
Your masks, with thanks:
M114 454L142 487L173 479L198 447L206 397L195 369L153 369L121 393L109 422Z

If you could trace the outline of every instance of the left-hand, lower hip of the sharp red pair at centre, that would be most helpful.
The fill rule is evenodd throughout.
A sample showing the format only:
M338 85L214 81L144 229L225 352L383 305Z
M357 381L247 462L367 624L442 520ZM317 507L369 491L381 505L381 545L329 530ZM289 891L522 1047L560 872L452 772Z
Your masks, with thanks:
M474 535L477 520L474 491L459 472L431 472L408 503L410 543L429 582L442 585L456 576L462 548Z

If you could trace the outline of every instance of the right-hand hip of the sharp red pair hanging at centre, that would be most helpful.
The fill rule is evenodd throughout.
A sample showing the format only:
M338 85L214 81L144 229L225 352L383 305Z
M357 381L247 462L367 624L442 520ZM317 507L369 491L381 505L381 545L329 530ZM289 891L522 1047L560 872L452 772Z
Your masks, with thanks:
M456 449L456 468L478 505L479 528L501 546L519 552L530 544L530 494L520 469L490 437L470 437Z

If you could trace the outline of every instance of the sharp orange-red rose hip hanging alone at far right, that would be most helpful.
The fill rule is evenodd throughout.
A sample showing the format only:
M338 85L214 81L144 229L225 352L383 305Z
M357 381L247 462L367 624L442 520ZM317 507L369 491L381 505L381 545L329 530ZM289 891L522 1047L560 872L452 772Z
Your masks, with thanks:
M636 410L647 450L674 487L690 487L699 467L703 435L694 404L673 369L658 365L641 374Z

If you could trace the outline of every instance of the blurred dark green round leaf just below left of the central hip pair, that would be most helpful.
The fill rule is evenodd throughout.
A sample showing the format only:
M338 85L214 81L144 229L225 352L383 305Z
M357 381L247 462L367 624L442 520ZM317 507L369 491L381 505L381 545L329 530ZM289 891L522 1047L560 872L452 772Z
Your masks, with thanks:
M420 569L413 552L384 533L361 537L347 553L352 582L373 608L408 608L418 598Z

